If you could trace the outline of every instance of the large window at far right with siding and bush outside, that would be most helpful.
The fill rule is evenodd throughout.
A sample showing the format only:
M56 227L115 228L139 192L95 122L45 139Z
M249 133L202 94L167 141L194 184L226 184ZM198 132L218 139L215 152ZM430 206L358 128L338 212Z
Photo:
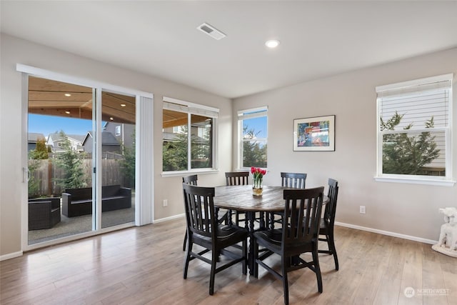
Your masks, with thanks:
M378 177L451 181L452 74L376 87Z

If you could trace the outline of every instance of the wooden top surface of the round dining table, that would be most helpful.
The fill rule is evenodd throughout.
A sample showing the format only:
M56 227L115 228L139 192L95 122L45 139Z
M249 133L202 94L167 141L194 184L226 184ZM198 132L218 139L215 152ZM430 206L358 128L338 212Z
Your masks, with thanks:
M214 205L236 211L283 211L283 186L263 186L262 196L253 196L252 186L216 186ZM323 204L328 197L323 196Z

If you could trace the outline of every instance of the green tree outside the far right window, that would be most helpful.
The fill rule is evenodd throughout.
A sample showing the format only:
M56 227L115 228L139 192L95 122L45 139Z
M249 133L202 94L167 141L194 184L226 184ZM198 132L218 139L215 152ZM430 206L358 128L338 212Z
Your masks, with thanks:
M381 131L395 130L401 123L403 115L397 112L383 121ZM433 128L433 116L426 121L426 128ZM413 124L403 127L411 129ZM385 134L383 136L383 173L384 174L423 174L423 166L438 158L440 150L436 148L435 136L429 131L421 132L418 136L408 136L406 133Z

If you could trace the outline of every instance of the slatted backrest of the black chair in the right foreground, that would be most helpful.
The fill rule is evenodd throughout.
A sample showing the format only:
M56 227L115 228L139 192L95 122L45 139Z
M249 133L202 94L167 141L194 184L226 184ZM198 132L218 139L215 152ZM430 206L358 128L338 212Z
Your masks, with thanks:
M297 246L316 239L321 221L323 186L285 189L284 200L282 246Z

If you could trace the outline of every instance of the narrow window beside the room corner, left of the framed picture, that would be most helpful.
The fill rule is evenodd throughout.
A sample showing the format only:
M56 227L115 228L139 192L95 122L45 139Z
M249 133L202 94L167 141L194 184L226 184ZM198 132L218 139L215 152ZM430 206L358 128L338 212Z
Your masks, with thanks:
M238 167L266 168L267 107L238 111Z

